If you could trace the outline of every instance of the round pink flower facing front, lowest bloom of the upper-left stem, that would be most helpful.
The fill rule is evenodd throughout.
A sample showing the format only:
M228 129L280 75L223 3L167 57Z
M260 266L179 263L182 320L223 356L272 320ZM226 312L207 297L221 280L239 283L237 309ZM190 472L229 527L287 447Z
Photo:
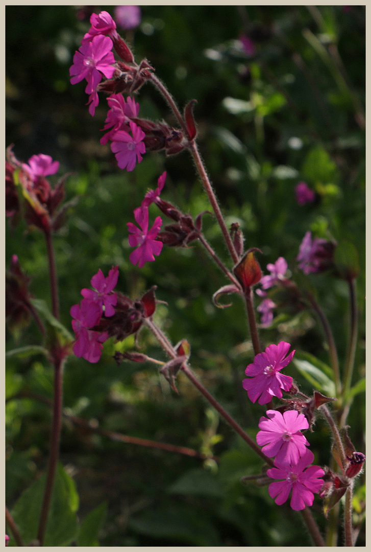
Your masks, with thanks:
M130 121L130 128L133 136L125 130L118 130L112 135L111 144L111 150L116 154L117 164L120 169L126 168L127 171L133 171L136 163L140 163L143 159L141 153L146 152L146 146L142 141L146 134L132 121Z

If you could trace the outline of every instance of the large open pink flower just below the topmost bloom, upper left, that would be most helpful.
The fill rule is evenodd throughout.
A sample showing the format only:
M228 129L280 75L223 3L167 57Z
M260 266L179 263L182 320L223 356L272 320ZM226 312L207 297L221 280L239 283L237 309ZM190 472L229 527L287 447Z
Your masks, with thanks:
M106 78L111 78L115 71L111 65L115 62L112 47L112 40L103 35L94 36L91 42L80 46L73 56L73 65L69 68L71 84L85 78L88 82L85 92L92 94L102 79L102 73Z

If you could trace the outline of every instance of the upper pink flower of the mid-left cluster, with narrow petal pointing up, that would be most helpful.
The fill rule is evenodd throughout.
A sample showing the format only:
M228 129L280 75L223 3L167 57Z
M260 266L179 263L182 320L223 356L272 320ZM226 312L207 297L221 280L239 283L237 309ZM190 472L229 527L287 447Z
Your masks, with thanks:
M96 291L93 291L92 289L84 288L81 290L81 295L85 299L94 301L97 305L100 306L100 308L104 306L105 316L114 316L115 314L114 306L117 304L117 295L116 293L112 293L112 290L116 286L118 279L119 279L118 266L116 266L115 268L114 267L111 268L107 278L104 277L103 272L101 271L101 269L99 269L98 272L94 274L93 278L90 280L90 283L92 284L93 288L95 288Z

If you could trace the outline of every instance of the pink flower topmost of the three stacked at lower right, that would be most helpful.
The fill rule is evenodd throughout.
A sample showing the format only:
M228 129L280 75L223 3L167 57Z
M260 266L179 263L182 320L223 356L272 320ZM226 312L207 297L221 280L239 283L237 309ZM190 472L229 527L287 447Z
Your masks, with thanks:
M292 351L288 357L289 343L281 341L278 345L270 345L264 353L259 353L254 358L254 362L249 364L245 370L246 376L243 380L243 388L248 392L251 402L256 402L259 398L259 404L265 405L272 399L272 396L281 399L282 391L289 391L292 386L291 376L279 374L279 370L286 367L292 360L295 351Z

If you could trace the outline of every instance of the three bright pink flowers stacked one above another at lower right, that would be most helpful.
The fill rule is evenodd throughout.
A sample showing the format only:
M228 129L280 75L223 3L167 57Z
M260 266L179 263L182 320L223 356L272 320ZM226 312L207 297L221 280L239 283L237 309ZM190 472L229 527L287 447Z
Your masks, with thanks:
M249 378L243 380L243 387L252 402L258 401L264 405L273 396L281 399L282 390L291 390L293 379L280 373L294 356L295 351L286 356L289 348L290 344L284 341L270 345L248 365L245 374ZM319 466L310 465L314 454L307 448L309 442L302 434L302 429L309 428L307 418L296 410L287 410L283 414L277 410L267 410L266 417L260 418L259 428L261 431L256 436L257 444L267 457L276 457L275 468L268 469L267 475L282 480L270 484L268 492L271 498L275 498L276 504L282 505L292 491L290 505L294 510L311 506L314 493L323 486L320 477L325 472Z

